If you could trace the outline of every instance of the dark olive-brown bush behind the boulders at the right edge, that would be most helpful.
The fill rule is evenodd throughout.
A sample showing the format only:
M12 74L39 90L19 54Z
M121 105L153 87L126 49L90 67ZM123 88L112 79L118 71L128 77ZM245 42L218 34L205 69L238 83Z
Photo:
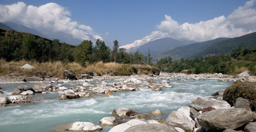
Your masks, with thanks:
M230 105L235 104L235 99L242 97L248 99L254 108L256 108L256 83L252 82L239 82L229 86L224 94L223 99L229 102Z

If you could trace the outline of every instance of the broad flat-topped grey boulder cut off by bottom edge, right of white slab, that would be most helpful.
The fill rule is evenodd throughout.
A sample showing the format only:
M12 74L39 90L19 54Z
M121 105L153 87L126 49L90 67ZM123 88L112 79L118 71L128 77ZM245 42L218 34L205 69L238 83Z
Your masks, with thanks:
M139 124L133 125L127 128L124 132L156 132L156 131L167 131L167 132L179 132L174 127L167 124Z

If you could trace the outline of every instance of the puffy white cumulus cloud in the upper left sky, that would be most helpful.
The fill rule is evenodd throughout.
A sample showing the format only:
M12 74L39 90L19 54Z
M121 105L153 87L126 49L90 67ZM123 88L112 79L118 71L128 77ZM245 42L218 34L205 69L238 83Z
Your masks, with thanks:
M0 21L10 21L35 28L42 33L63 32L71 34L79 40L101 39L89 25L78 24L72 21L71 13L66 8L56 3L48 3L39 7L24 2L11 5L0 5Z

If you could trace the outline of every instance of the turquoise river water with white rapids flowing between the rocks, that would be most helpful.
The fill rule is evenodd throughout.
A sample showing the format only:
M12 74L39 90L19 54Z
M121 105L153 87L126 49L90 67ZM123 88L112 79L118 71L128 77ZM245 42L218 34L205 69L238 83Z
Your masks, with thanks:
M161 81L161 80L156 80ZM126 107L138 113L151 113L159 109L161 117L151 116L159 120L166 118L171 111L187 106L189 101L198 96L208 97L219 89L230 86L230 82L216 80L202 81L170 81L174 88L163 88L161 92L142 88L141 91L114 92L108 98L101 95L92 98L80 98L61 101L54 92L40 95L46 97L36 104L11 105L0 108L0 131L55 131L54 127L74 121L89 121L98 124L103 117L112 117L111 112L120 107ZM20 84L1 85L5 94L11 93ZM24 85L24 84L22 84ZM25 85L34 85L26 83ZM56 84L57 85L57 84ZM76 83L66 83L74 86ZM38 95L36 95L38 96ZM108 131L111 127L103 127Z

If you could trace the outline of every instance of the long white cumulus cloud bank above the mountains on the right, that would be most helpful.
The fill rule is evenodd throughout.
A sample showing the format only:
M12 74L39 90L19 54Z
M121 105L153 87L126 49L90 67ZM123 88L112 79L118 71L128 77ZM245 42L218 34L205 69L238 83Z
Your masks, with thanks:
M256 9L253 8L255 0L245 3L243 7L235 9L227 17L220 16L208 21L200 21L195 24L185 22L179 24L170 16L157 25L157 30L149 36L136 40L132 44L122 46L130 49L138 47L149 41L159 38L172 37L178 40L207 41L218 37L238 37L256 31Z

